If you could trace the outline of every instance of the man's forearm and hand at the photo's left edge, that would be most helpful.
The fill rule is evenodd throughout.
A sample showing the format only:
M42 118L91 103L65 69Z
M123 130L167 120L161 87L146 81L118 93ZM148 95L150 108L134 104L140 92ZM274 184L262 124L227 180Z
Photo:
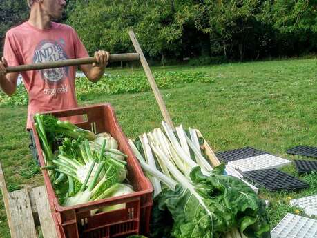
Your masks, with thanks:
M6 66L8 66L8 63L2 57L0 61L0 88L6 95L11 96L17 88L17 77L19 74L17 72L7 74Z

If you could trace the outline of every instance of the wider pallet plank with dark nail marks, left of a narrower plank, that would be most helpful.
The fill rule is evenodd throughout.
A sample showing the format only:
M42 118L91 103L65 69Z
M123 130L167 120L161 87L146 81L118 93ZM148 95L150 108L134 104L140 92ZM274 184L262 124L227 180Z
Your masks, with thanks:
M32 207L27 189L10 193L9 206L17 238L37 238Z

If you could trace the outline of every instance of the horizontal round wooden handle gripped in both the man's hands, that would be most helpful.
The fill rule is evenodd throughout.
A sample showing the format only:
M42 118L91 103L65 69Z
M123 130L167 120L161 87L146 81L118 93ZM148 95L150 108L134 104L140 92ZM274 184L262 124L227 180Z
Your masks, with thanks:
M118 61L137 61L140 59L140 55L137 53L128 54L111 54L109 62ZM7 72L23 72L29 70L44 70L48 68L60 68L66 66L80 66L83 64L97 63L95 57L79 58L79 59L66 59L62 61L52 61L46 63L34 63L26 64L22 66L8 66L6 68Z

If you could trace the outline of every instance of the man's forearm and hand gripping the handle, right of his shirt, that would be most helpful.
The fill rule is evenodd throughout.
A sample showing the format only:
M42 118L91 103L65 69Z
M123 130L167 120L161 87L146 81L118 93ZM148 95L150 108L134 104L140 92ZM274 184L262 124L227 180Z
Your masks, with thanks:
M84 72L90 81L97 83L102 75L104 75L104 69L108 64L109 56L109 52L99 50L95 52L97 63L93 63L92 65L82 65L79 68Z

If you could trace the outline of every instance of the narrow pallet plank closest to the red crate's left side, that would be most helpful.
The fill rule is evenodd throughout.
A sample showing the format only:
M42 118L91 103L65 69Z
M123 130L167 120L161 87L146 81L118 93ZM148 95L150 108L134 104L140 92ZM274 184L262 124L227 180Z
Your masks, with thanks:
M57 238L55 223L50 212L48 204L48 195L45 186L33 188L32 190L37 204L37 213L41 224L41 230L44 238Z

